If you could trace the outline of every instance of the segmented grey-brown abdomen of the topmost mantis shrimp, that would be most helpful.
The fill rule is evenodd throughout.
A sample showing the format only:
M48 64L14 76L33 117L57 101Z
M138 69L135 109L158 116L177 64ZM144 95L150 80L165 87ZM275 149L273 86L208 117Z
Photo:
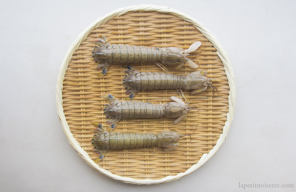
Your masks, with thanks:
M162 61L162 50L158 47L143 47L112 44L107 46L108 63L146 63Z

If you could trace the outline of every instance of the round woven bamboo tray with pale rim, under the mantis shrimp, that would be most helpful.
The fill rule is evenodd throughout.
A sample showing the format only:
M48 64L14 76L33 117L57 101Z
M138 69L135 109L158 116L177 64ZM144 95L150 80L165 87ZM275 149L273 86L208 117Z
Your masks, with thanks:
M207 89L197 95L185 92L192 105L187 119L173 124L175 119L120 120L113 129L117 132L160 132L177 130L188 134L180 140L175 151L163 148L137 148L108 151L104 158L94 154L91 138L94 134L91 121L105 127L104 104L101 97L110 93L118 99L127 97L122 85L122 65L111 65L105 76L99 78L97 63L91 57L93 41L105 35L111 44L130 44L148 47L176 47L188 49L194 41L202 45L192 52L192 59L199 62L198 69L183 65L180 70L167 66L170 73L186 74L196 70L207 71L218 89ZM133 64L138 71L162 71L155 64ZM178 96L176 90L139 91L133 100L151 103L171 102ZM220 43L202 24L175 9L155 5L137 5L117 9L97 19L74 41L60 68L57 82L57 110L67 138L78 154L99 172L116 180L132 184L156 184L176 180L210 159L223 143L235 105L233 72Z

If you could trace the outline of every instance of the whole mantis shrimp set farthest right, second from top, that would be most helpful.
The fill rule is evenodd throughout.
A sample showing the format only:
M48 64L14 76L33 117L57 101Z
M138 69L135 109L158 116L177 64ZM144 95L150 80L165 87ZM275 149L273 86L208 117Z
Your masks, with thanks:
M206 71L175 75L163 72L139 72L128 65L125 72L128 74L123 77L123 85L127 89L126 93L130 94L126 99L133 98L139 90L176 89L183 93L182 89L195 89L191 94L197 94L208 87L216 89L212 85L212 79L205 76Z

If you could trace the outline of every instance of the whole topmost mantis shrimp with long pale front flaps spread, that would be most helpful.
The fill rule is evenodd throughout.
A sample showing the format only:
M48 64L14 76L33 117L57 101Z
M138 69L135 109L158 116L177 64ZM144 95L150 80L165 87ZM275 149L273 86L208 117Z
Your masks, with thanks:
M131 63L155 63L165 71L163 64L177 65L179 69L187 63L191 68L196 69L195 61L188 58L190 52L195 51L200 47L201 42L195 41L189 49L181 47L144 47L135 45L110 44L107 38L94 41L97 46L94 46L92 57L96 62L99 62L97 68L102 69L102 73L98 76L104 76L111 63L114 64L131 64Z

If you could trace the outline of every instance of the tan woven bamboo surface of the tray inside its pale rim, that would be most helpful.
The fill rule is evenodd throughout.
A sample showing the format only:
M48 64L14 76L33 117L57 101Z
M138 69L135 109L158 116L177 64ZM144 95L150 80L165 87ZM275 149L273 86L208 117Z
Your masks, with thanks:
M175 151L165 152L162 148L139 148L108 151L98 162L99 166L111 173L134 179L162 179L169 175L185 172L196 164L202 154L213 149L225 125L228 112L229 85L221 59L215 47L191 23L171 15L159 12L128 12L113 17L105 24L91 31L85 41L73 54L63 81L63 109L73 137L86 151L90 158L93 154L91 138L94 127L90 121L96 120L107 126L103 114L104 104L109 103L101 98L102 93L110 93L118 99L127 97L121 84L122 65L111 65L101 79L97 77L97 63L91 57L94 39L105 35L111 44L129 44L148 47L176 47L177 43L188 49L194 41L201 41L202 46L191 53L190 58L199 62L200 68L191 69L184 65L175 71L175 66L166 66L170 73L185 74L196 70L207 71L207 77L217 80L213 85L219 90L213 98L213 89L207 89L197 95L185 92L186 98L200 111L192 110L185 121L173 124L174 119L121 120L113 129L117 132L160 132L175 129L182 134L192 133L180 140ZM197 55L198 54L198 55ZM133 64L138 71L162 71L155 64ZM178 96L176 90L139 91L133 100L151 103L171 102L170 96Z

